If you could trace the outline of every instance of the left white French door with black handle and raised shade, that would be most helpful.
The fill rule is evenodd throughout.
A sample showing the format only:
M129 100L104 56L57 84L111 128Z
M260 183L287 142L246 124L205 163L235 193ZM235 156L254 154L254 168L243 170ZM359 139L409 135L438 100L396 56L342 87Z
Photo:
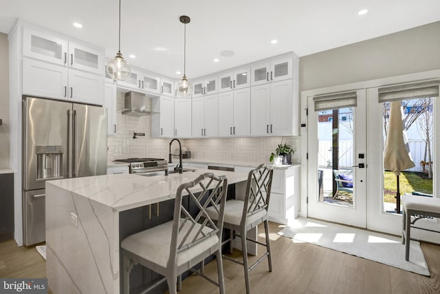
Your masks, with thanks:
M307 215L366 227L366 90L309 96Z

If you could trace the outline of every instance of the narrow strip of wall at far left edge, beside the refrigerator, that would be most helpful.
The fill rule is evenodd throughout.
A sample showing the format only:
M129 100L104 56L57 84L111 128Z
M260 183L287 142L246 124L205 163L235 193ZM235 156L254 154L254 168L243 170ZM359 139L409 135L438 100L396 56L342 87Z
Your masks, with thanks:
M9 169L9 61L8 35L0 33L0 169Z

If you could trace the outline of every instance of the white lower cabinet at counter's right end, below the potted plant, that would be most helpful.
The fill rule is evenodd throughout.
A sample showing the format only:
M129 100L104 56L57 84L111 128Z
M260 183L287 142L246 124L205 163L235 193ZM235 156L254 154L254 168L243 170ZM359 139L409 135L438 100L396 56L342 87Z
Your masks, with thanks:
M269 220L287 224L300 208L300 165L274 169L269 202Z

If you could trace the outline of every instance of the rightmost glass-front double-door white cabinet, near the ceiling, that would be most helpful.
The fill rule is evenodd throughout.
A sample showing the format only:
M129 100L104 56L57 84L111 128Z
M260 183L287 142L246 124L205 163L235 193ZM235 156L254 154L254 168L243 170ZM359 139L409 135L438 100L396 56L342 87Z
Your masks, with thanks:
M292 78L292 55L278 56L271 61L255 63L251 71L253 86L287 80Z

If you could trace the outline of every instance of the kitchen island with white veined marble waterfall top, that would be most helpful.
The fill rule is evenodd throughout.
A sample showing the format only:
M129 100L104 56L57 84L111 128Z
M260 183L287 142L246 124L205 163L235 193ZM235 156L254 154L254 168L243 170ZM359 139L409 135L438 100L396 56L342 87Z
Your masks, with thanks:
M172 219L177 187L205 172L212 171L197 169L151 177L115 174L47 182L47 279L52 292L120 293L120 241ZM215 174L227 176L228 185L239 183L236 189L243 189L248 178L248 174L230 171ZM145 279L142 276L146 273L142 270L139 275ZM148 273L150 278L153 275Z

